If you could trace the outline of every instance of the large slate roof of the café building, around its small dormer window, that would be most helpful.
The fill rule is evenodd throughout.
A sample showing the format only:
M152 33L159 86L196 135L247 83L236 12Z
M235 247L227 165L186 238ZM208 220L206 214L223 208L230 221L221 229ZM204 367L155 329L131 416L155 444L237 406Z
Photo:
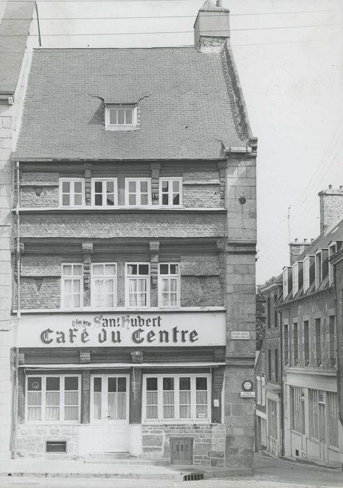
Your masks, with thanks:
M14 157L220 158L250 137L225 68L222 54L195 47L36 49ZM139 128L106 131L104 100L137 103Z

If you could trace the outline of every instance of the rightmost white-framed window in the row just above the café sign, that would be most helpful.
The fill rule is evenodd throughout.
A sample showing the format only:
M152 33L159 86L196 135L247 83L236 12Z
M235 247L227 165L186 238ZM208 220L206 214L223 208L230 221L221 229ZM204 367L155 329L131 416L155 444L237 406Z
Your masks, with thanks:
M158 265L158 306L180 306L180 264Z

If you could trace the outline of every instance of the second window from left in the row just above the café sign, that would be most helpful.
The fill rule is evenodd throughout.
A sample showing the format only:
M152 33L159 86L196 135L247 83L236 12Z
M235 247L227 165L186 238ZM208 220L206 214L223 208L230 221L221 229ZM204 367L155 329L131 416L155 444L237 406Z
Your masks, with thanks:
M91 268L92 307L116 307L116 263L93 263Z

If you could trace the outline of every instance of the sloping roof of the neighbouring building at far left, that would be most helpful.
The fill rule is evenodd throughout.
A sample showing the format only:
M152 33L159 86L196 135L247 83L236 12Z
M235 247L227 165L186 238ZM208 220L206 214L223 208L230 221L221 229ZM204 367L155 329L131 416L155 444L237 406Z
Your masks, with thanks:
M6 4L0 22L0 93L12 95L15 92L33 8L33 1Z

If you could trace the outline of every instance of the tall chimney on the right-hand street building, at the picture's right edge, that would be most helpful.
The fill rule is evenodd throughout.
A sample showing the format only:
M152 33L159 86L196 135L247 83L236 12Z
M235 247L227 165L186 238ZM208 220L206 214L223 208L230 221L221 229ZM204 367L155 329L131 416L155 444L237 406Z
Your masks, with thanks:
M319 192L321 234L326 235L328 230L343 218L343 186L338 190L329 185L328 190Z

